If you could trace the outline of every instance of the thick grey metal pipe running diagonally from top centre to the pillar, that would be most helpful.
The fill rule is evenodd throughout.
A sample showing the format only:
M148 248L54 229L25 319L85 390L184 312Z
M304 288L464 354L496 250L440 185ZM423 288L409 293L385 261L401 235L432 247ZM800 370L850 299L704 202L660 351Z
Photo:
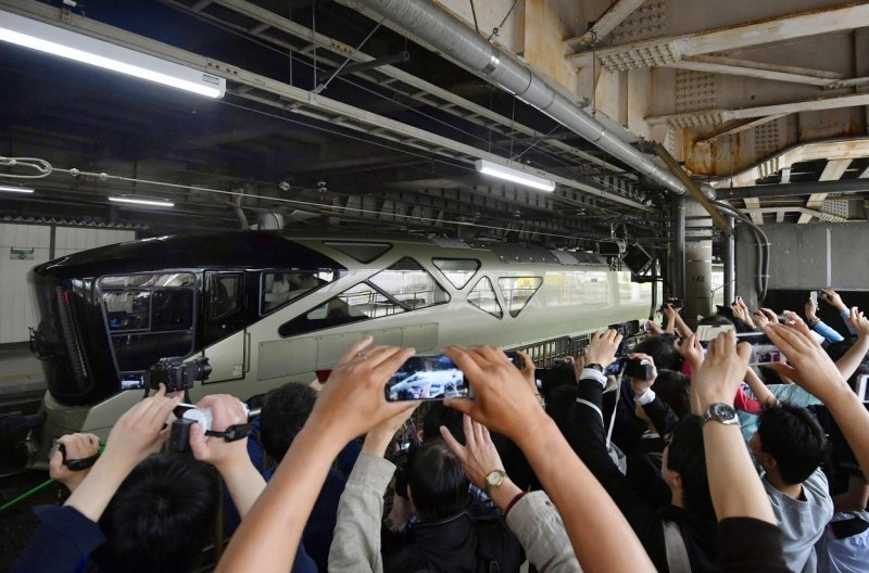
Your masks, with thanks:
M673 193L684 194L685 187L675 175L609 132L575 102L562 96L551 80L533 72L512 53L486 41L431 0L360 0L360 3L537 107L658 184Z

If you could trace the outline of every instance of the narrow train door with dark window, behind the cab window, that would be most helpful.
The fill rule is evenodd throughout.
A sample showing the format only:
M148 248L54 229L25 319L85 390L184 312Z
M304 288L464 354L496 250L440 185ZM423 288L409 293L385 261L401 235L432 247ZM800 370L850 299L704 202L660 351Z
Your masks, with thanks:
M209 271L204 286L202 346L212 367L205 384L242 379L248 360L244 273Z

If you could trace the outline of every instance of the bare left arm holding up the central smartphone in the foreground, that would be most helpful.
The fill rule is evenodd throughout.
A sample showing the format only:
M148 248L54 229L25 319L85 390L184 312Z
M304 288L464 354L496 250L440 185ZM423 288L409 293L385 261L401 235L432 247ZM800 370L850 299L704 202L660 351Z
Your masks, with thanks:
M307 423L242 520L216 571L289 571L332 460L352 438L407 407L387 403L383 386L413 349L368 348L370 343L366 338L353 345L332 370Z

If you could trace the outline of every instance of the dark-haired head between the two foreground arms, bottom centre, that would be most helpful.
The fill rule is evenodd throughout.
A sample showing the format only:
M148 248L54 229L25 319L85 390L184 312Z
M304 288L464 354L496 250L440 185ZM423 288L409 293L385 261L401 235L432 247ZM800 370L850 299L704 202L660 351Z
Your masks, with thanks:
M462 462L440 437L423 442L408 461L407 485L424 522L454 515L470 502Z

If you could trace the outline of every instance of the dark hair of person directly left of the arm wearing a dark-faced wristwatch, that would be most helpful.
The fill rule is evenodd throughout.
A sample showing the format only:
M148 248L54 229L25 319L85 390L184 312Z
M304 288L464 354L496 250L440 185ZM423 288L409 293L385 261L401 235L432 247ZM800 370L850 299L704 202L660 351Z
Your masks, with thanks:
M703 420L689 415L679 420L667 450L667 468L682 478L685 509L704 520L715 520L715 507L706 474Z

